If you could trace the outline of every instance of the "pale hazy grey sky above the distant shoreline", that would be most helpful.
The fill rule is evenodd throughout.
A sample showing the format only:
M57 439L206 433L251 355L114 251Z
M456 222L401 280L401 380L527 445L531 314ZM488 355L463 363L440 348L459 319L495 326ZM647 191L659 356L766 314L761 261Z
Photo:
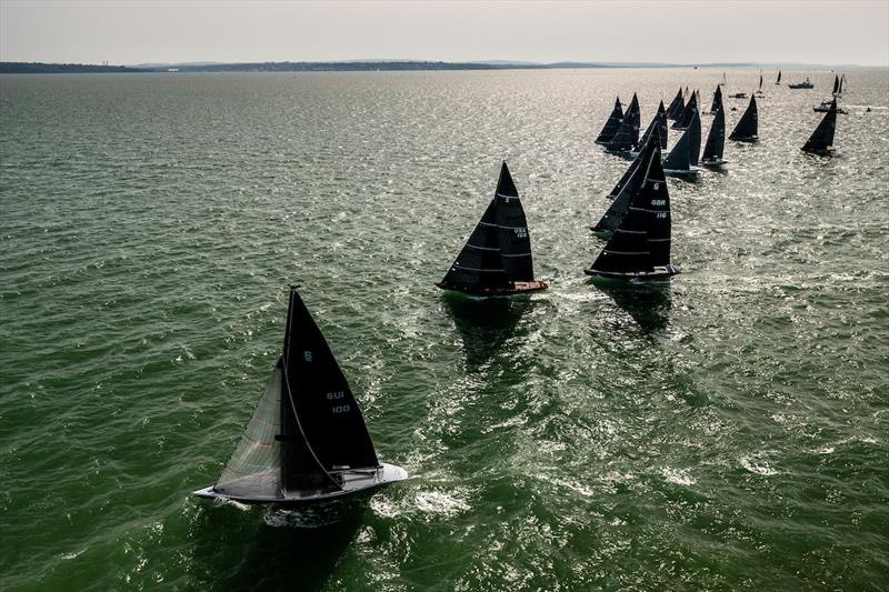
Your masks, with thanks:
M0 60L889 64L889 0L0 0Z

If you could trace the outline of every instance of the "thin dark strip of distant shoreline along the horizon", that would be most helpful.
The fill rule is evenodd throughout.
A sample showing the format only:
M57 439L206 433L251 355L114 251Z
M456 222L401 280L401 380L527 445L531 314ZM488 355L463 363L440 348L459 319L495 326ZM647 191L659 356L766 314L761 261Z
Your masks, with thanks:
M157 73L157 72L404 72L451 70L559 70L602 68L769 68L766 63L650 63L650 62L443 62L443 61L346 61L346 62L243 62L243 63L170 63L150 66L99 66L88 63L0 62L0 74L64 73ZM865 68L855 64L782 64L785 70ZM878 68L878 67L875 67Z

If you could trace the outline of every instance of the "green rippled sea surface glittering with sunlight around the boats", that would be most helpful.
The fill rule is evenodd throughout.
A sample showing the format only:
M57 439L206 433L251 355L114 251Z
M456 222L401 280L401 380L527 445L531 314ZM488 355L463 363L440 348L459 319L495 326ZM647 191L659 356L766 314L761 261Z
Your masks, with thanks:
M0 77L0 589L889 590L889 72L847 72L832 159L833 73L765 72L761 141L669 181L682 274L582 272L615 96L646 126L721 74ZM449 297L501 160L552 287ZM411 476L198 500L290 283Z

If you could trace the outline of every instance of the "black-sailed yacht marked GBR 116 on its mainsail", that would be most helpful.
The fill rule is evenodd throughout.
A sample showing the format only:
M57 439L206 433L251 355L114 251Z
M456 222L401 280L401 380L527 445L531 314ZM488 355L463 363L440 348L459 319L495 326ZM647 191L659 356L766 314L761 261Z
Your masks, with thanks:
M640 182L631 191L626 214L588 269L587 275L619 280L665 279L680 272L670 262L670 194L660 163L660 142L646 144Z

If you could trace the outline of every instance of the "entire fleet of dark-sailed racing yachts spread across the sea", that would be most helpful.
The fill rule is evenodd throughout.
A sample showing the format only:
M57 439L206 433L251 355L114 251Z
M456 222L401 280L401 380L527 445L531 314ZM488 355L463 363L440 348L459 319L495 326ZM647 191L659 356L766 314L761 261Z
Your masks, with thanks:
M759 140L757 97L763 96L762 80L760 71L759 90L750 97L730 140ZM842 112L837 100L842 96L843 81L845 76L835 77L832 99L816 109L825 117L802 151L822 157L833 153L837 113ZM780 82L779 70L775 83ZM661 100L641 137L638 97L633 94L626 112L616 99L596 143L608 152L630 152L633 159L609 192L609 208L590 227L606 243L585 273L630 282L680 273L671 260L667 175L695 175L699 165L727 163L725 84L723 72L710 104L712 124L702 154L699 91L680 87L667 108ZM663 152L668 120L675 121L672 128L682 133L672 149ZM436 285L473 298L510 297L549 288L535 279L528 222L506 162L493 198ZM379 460L336 357L297 288L290 287L283 348L266 389L217 482L193 493L218 501L292 506L371 492L407 476L402 468Z

